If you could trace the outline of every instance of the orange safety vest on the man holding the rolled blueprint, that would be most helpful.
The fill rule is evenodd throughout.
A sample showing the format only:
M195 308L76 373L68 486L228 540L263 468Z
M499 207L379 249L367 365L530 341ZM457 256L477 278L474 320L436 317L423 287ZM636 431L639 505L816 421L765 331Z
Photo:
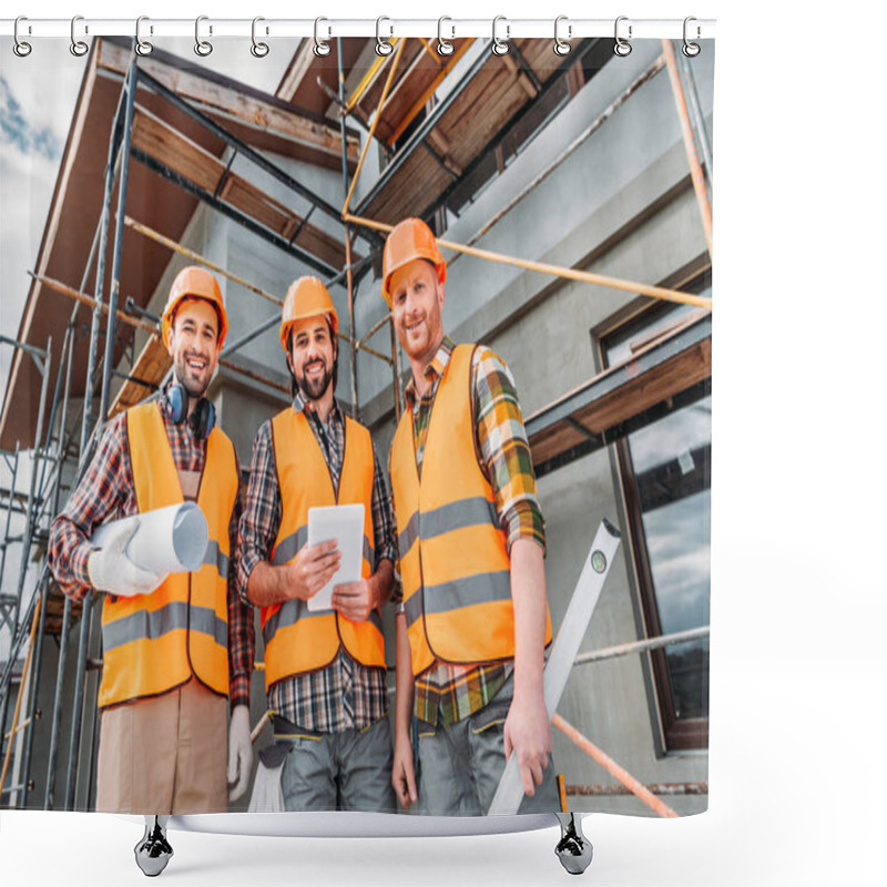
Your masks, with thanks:
M130 409L126 436L139 512L182 503L160 405ZM100 708L166 693L192 676L227 696L228 524L238 481L234 446L214 428L197 495L210 529L203 565L195 573L172 573L151 594L105 597Z

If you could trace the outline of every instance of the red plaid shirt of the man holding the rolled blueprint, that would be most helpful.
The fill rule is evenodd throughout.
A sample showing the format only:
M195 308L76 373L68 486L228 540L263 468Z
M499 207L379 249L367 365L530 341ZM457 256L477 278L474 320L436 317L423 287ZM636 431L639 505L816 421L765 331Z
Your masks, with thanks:
M187 422L176 425L161 409L166 438L179 471L203 471L206 461L206 440L195 440ZM235 455L236 460L236 455ZM255 657L255 625L253 611L237 593L236 542L237 523L243 507L243 490L237 465L237 499L228 523L231 565L228 567L228 699L231 705L249 704L249 677ZM82 601L91 591L86 562L95 546L89 542L93 530L114 512L125 518L139 513L135 481L132 473L130 446L126 437L126 415L112 419L104 429L99 449L86 473L52 522L49 560L55 581L74 601Z

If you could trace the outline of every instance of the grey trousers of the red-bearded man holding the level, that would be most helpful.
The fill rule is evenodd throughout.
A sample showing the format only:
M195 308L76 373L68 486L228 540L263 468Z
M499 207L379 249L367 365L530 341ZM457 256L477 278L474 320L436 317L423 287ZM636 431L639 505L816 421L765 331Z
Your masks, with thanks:
M513 676L479 712L449 727L419 721L417 812L428 816L485 816L506 768L504 723ZM549 758L542 785L524 795L519 813L557 813L558 778Z

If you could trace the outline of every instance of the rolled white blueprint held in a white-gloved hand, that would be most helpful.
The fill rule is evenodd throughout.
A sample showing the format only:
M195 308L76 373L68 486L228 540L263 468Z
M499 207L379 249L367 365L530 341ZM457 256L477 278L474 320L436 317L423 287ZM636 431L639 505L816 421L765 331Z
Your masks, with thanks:
M126 557L136 567L159 574L200 570L210 542L210 529L196 502L167 506L104 523L90 541L101 547L112 527L135 521L139 529L126 546Z

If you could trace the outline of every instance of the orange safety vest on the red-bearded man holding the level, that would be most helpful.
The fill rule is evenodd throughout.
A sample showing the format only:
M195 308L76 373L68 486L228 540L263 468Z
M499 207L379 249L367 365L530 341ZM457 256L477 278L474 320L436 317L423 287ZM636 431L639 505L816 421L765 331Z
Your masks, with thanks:
M416 467L412 410L391 443L400 579L412 673L435 660L485 663L514 656L511 561L492 487L477 450L471 360L458 345L438 384ZM547 616L546 643L551 640Z

